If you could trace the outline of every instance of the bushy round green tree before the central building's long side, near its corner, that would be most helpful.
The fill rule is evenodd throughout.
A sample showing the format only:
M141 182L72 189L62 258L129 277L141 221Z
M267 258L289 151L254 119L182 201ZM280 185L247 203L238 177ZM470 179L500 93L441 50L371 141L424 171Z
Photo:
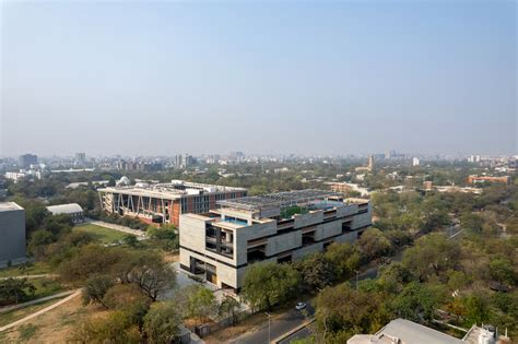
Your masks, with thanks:
M271 310L284 303L299 284L298 273L290 264L257 263L248 268L243 280L243 296L252 308Z

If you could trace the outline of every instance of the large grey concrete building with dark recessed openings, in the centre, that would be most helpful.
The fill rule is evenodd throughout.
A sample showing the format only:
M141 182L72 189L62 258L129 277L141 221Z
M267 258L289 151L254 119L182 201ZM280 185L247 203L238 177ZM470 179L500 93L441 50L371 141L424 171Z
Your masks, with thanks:
M289 262L353 242L372 224L368 200L299 190L220 201L217 210L180 216L180 266L239 290L247 266Z

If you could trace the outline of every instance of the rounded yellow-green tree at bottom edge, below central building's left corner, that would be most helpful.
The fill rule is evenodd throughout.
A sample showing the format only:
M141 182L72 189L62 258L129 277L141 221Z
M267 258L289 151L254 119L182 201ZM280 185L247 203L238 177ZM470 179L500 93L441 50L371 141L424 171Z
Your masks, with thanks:
M144 332L151 343L168 344L179 334L180 317L173 303L156 303L144 317Z

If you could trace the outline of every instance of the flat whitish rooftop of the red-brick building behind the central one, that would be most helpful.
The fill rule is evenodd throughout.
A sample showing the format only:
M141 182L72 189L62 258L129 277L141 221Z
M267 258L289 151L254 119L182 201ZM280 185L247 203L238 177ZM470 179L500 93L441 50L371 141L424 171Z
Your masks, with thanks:
M246 191L246 189L175 180L173 182L162 183L108 187L98 189L98 191L165 199L179 199L183 195L189 194L197 195L201 193L207 194L217 192Z

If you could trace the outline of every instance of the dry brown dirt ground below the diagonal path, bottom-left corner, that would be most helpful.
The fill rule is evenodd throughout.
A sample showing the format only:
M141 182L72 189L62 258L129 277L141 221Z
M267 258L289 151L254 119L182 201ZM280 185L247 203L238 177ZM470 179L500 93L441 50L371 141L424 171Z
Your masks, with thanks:
M83 306L81 297L36 317L23 324L0 333L0 343L67 343L67 337L90 315L102 317L94 306Z

